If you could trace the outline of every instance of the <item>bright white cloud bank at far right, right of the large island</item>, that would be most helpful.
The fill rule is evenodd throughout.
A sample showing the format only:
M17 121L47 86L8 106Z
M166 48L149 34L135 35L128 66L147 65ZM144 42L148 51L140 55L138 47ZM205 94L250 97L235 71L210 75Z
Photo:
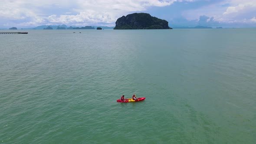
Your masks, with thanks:
M185 10L183 16L187 23L194 21L203 26L256 28L256 0L219 0L196 10ZM207 16L207 22L200 23L201 16Z

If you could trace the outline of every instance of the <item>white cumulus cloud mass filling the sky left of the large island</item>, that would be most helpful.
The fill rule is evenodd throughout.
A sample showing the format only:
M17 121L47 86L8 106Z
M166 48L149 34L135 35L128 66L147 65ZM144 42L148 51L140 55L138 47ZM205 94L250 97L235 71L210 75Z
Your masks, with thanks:
M0 18L26 26L60 23L114 25L123 15L182 1L194 0L2 0Z

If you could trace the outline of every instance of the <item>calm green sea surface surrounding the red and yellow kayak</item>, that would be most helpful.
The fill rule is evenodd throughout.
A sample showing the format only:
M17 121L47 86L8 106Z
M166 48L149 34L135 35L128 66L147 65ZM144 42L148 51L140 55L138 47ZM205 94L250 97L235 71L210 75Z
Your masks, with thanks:
M0 144L256 143L256 29L2 31Z

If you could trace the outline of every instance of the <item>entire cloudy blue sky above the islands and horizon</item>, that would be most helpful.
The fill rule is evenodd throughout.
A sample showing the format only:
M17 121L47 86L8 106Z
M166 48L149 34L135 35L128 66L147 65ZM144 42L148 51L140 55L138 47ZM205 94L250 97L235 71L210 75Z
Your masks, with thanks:
M256 28L256 0L1 0L0 28L40 25L115 26L149 13L169 26Z

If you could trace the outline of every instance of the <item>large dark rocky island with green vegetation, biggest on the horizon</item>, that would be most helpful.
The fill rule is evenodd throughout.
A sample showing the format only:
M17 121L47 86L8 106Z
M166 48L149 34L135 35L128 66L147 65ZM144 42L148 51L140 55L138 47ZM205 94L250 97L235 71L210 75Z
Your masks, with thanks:
M166 20L148 13L132 13L118 18L114 29L172 29Z

